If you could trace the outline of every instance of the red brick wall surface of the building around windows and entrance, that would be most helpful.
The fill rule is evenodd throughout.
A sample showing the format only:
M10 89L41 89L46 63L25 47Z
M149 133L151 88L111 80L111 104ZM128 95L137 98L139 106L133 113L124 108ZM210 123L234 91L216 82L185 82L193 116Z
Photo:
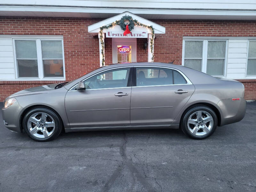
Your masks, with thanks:
M88 25L100 19L0 17L1 35L63 35L66 80L70 81L99 67L99 39L92 37ZM166 27L166 34L155 39L156 62L181 65L183 36L256 36L256 21L152 20ZM148 59L145 39L137 39L137 61ZM112 63L112 39L105 38L106 64ZM1 82L0 101L8 95L54 81ZM245 98L256 100L255 80L243 81Z

